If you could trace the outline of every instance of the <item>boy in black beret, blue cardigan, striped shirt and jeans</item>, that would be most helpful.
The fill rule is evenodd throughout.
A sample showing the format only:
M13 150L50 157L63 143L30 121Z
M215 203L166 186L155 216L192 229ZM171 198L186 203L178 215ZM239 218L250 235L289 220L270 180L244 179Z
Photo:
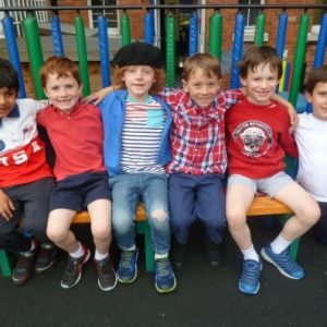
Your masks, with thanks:
M122 47L114 56L113 83L121 90L100 104L105 130L105 162L112 190L112 225L121 250L118 280L137 277L134 217L140 197L145 204L155 251L155 287L169 293L177 287L168 253L170 221L165 165L171 158L171 114L153 96L162 88L160 50L144 43Z

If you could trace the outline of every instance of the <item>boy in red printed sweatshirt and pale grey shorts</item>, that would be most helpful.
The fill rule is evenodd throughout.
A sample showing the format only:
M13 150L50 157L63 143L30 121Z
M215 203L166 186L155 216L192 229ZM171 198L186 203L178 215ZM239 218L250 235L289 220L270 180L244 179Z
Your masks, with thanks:
M255 294L259 289L262 261L256 253L246 225L246 211L257 190L267 193L294 213L280 234L261 254L278 270L292 279L304 271L289 254L292 241L305 233L318 219L316 202L283 171L284 153L296 156L296 145L289 133L289 117L280 105L270 100L281 76L281 60L268 46L249 49L240 62L241 83L247 96L228 111L227 220L232 238L243 253L239 289Z

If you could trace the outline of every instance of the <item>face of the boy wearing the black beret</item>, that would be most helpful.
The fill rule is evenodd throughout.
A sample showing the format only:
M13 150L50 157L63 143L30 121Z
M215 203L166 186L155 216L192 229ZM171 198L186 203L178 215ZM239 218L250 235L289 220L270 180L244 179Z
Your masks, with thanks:
M156 82L155 70L149 65L129 65L122 80L125 82L129 95L137 101L144 101Z

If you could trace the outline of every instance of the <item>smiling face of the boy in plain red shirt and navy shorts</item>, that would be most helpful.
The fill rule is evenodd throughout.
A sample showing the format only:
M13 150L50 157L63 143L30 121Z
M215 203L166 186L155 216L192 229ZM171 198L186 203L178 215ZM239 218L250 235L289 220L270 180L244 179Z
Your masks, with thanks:
M62 77L49 74L45 93L56 108L69 113L81 98L82 85L70 73Z

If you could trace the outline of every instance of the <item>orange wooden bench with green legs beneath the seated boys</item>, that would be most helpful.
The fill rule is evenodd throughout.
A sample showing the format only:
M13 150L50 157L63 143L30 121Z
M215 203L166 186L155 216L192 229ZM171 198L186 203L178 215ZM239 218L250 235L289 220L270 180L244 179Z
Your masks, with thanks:
M292 215L292 210L277 199L268 196L256 196L251 207L249 208L247 216L271 216L279 215L282 223ZM89 216L87 211L78 213L73 220L73 223L89 223ZM135 216L136 232L144 235L144 251L145 251L145 269L146 271L154 270L154 250L152 244L150 228L146 219L146 211L142 204L137 207ZM296 257L299 240L291 244L291 255ZM7 251L0 251L0 271L3 276L11 276L12 267L14 265L14 256Z

